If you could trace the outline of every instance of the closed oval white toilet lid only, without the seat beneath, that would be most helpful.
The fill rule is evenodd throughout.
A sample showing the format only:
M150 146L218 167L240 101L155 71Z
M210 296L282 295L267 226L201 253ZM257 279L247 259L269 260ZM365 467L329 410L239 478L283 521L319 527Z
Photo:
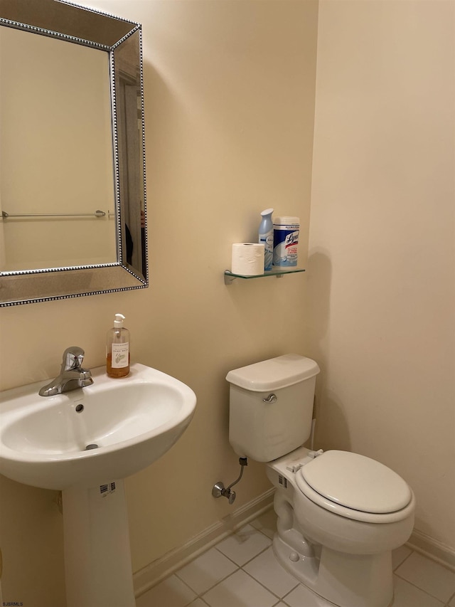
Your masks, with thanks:
M410 487L393 470L348 451L326 451L299 473L319 495L360 512L396 512L412 498Z

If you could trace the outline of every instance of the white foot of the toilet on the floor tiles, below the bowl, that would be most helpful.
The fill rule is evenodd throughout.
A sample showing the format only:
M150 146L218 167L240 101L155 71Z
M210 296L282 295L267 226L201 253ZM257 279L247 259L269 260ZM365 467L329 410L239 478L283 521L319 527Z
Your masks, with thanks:
M336 607L389 607L393 598L392 554L344 554L315 547L303 556L276 533L279 563L301 584ZM317 555L320 549L320 556Z

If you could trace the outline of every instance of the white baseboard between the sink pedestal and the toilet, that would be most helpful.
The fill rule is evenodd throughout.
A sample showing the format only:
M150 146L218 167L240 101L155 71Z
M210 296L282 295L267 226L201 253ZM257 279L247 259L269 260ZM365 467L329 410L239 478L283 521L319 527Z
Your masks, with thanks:
M133 574L134 594L136 597L141 596L141 594L156 586L159 581L173 574L174 571L177 571L183 565L195 559L199 554L218 544L221 539L228 537L239 527L255 519L262 512L269 510L273 504L273 496L274 487L271 487L262 495L256 497L255 500L234 510L232 514L228 514L228 516L204 529L200 534L189 539L186 544L174 548L164 554L164 556L156 559L156 561L137 571Z

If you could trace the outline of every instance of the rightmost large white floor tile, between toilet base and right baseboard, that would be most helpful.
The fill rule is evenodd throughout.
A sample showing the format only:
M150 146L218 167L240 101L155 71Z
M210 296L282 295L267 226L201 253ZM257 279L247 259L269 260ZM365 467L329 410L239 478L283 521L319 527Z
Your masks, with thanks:
M455 592L455 573L417 552L413 552L395 573L443 603Z

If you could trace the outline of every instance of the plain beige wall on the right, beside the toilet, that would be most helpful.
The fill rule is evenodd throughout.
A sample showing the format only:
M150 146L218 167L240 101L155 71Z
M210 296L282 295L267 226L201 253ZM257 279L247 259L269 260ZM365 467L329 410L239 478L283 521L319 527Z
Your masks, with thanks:
M454 7L320 2L309 258L318 446L395 468L452 550Z

